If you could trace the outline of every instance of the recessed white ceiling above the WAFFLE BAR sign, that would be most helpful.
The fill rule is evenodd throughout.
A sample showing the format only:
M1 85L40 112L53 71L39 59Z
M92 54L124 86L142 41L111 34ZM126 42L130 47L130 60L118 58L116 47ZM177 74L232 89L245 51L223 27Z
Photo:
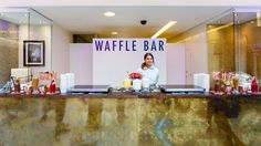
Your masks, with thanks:
M170 39L218 14L230 7L34 7L34 10L52 19L65 30L79 34L112 36L117 31L121 38L150 38L168 21L178 21L159 38ZM116 13L105 18L105 11ZM140 20L146 19L146 25Z

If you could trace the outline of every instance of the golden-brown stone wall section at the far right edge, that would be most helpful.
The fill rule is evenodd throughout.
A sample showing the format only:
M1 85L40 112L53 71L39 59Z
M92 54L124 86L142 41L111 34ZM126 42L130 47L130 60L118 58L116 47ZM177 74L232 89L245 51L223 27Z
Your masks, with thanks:
M254 20L237 25L237 29L239 70L261 79L261 27Z

